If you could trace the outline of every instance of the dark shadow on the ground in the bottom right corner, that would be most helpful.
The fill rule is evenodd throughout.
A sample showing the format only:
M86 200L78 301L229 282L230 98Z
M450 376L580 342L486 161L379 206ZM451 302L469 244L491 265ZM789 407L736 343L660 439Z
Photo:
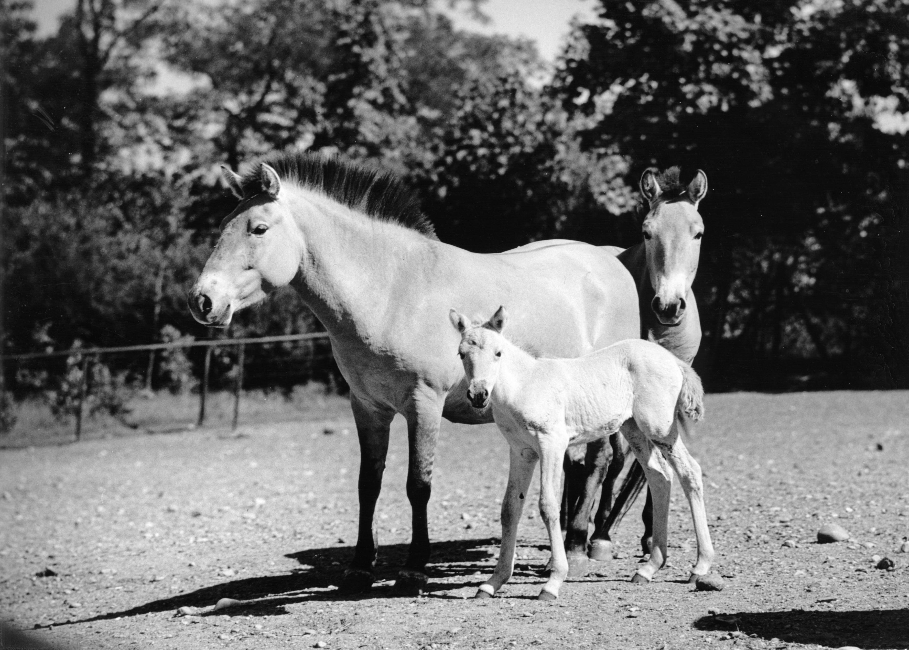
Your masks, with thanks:
M817 612L740 612L710 615L694 622L699 630L719 630L827 647L909 648L909 609Z

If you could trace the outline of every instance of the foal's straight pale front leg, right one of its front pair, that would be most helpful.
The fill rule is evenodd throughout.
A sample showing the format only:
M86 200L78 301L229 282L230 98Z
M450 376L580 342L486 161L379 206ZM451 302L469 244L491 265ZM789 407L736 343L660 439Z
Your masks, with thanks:
M537 437L540 440L540 516L549 532L549 545L553 554L549 580L538 599L554 600L568 575L568 558L562 541L562 526L559 525L559 484L568 436L564 432L555 435L540 432Z

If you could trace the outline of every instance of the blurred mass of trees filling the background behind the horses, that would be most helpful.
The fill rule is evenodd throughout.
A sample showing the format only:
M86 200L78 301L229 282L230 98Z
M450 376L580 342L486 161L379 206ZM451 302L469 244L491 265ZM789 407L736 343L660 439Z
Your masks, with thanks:
M632 245L644 168L704 169L707 385L909 387L906 0L603 0L554 69L432 0L74 0L42 38L0 12L7 352L207 335L217 165L309 149L405 175L480 252ZM318 327L285 290L232 335Z

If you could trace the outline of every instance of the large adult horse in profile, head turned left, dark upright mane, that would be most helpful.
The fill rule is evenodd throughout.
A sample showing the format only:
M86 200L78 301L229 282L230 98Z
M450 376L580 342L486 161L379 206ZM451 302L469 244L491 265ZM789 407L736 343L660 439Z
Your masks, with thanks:
M634 281L609 251L578 242L497 255L445 245L400 182L336 159L278 155L243 176L225 169L225 180L240 204L189 293L190 309L203 325L223 327L292 285L325 326L360 442L359 531L342 585L349 592L375 581L375 502L389 425L404 415L413 537L395 586L418 592L441 418L492 422L466 399L450 306L474 315L514 305L515 343L573 357L639 335Z

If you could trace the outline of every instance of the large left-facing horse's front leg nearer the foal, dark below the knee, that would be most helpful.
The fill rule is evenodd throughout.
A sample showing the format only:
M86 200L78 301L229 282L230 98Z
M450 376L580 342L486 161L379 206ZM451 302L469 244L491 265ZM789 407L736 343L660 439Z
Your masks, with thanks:
M426 563L429 561L429 525L426 506L433 485L435 443L439 437L444 399L433 392L415 395L407 418L407 498L413 516L413 533L407 564L398 574L395 591L419 595L428 581Z

